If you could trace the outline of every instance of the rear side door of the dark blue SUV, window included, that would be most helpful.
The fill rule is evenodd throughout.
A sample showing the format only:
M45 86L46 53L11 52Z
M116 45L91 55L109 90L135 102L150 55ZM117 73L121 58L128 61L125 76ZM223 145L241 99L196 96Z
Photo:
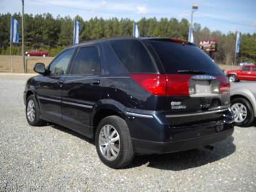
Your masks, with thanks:
M90 114L100 100L103 57L100 44L80 47L70 74L63 83L63 124L75 131L91 136Z

